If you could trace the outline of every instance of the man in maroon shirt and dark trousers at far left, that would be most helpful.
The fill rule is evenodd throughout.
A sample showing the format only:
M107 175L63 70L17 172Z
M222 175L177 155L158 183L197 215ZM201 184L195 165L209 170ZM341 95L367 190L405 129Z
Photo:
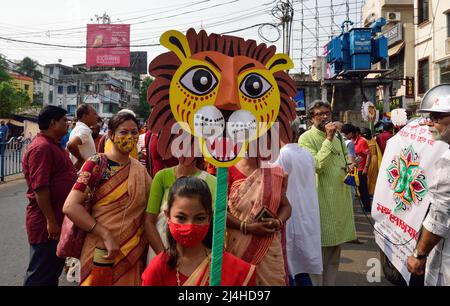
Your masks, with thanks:
M63 204L77 178L72 162L59 143L67 133L66 113L56 106L46 106L40 111L41 132L22 161L29 200L26 229L30 261L25 286L57 286L64 268L65 260L56 256L56 246Z

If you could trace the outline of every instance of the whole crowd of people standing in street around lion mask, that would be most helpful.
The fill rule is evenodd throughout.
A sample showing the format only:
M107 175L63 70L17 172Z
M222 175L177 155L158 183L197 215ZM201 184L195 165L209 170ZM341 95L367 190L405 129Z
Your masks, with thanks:
M421 109L430 114L433 138L446 143L448 97L450 85L437 86ZM442 103L428 102L435 99ZM353 203L371 211L394 125L333 122L324 101L307 112L311 127L293 121L293 137L280 144L271 167L246 157L228 170L222 285L333 286L342 245L358 243ZM104 133L92 106L80 105L76 118L69 128L65 110L44 107L41 132L23 159L30 245L24 285L58 285L61 254L70 248L78 248L83 286L208 285L215 168L203 158L162 159L158 135L130 110L110 118ZM449 154L437 160L434 201L408 257L408 269L425 274L425 284L450 285ZM70 225L85 233L81 244L65 234ZM434 248L439 252L429 257Z

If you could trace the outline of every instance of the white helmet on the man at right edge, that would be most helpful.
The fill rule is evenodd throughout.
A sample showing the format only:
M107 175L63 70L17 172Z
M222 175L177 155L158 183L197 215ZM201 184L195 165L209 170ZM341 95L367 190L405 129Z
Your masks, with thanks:
M419 113L450 113L450 84L440 84L423 96Z

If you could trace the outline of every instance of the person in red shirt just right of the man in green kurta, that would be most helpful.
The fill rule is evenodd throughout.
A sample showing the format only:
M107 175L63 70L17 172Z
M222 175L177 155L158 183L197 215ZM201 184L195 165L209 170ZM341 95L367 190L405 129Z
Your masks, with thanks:
M354 125L344 124L342 126L342 134L345 138L351 139L355 145L358 165L359 197L363 203L364 210L369 212L371 208L369 191L367 189L367 173L369 172L371 160L369 146L367 141L361 137L360 129Z

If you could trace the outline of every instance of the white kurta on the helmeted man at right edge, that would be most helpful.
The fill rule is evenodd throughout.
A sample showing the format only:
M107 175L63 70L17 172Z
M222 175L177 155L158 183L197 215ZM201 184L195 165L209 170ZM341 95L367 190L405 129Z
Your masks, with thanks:
M432 202L423 226L443 239L427 260L425 285L450 286L450 150L442 155L435 167L430 185Z

